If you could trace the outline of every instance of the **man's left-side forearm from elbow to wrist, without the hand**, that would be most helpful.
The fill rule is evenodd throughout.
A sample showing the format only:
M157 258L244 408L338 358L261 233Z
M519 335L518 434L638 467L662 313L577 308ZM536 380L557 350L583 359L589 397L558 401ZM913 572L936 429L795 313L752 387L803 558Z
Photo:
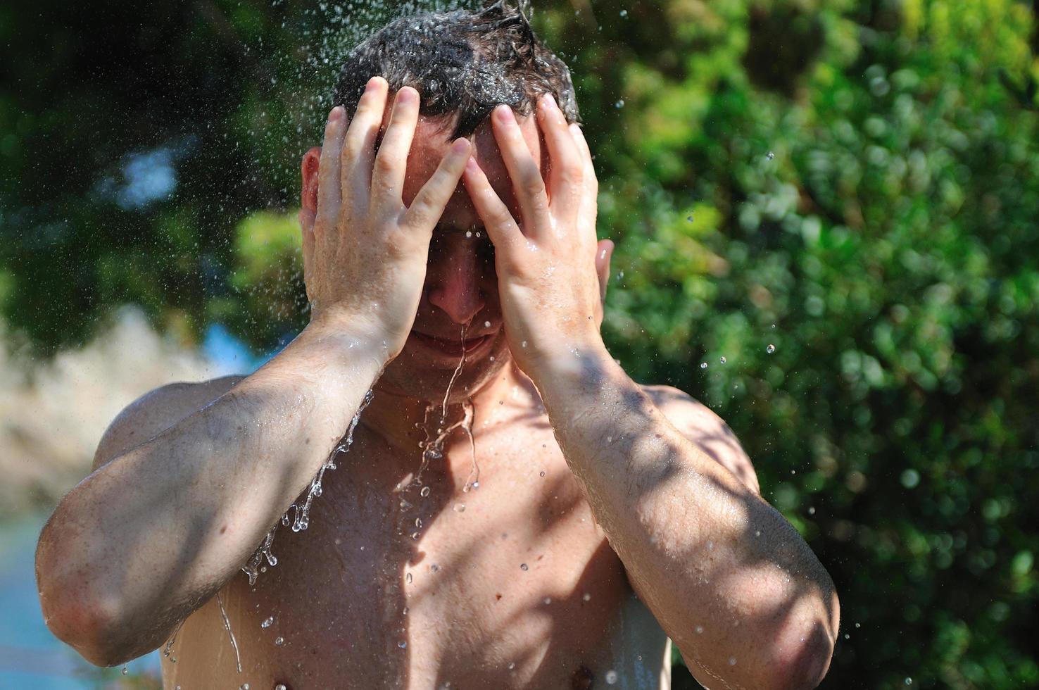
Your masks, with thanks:
M336 324L309 326L232 391L74 488L37 551L52 629L90 661L118 663L161 644L231 578L378 374L378 347L351 348L349 338Z

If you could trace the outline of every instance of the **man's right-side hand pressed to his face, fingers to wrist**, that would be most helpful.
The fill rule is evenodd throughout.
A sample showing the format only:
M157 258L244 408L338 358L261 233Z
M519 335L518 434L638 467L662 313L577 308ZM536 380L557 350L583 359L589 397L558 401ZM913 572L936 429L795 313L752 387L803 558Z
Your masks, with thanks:
M531 376L541 363L602 346L598 327L613 251L609 240L595 242L598 183L581 128L567 126L549 95L538 101L537 120L551 161L544 178L511 108L498 106L491 115L522 227L475 159L463 177L495 244L510 349Z

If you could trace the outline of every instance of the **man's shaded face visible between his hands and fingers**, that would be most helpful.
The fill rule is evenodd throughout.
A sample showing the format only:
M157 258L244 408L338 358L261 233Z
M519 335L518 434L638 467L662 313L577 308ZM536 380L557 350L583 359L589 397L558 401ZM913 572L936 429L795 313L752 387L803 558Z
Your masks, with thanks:
M544 169L544 152L533 117L521 117L527 145ZM389 121L389 109L387 118ZM403 201L410 205L433 175L451 144L452 122L422 116L407 159ZM521 220L520 208L490 123L470 137L480 167ZM463 400L489 382L511 360L502 324L494 247L464 187L454 196L433 231L419 312L400 355L388 367L377 388L424 400L441 400L462 355L465 364L452 387L451 399Z

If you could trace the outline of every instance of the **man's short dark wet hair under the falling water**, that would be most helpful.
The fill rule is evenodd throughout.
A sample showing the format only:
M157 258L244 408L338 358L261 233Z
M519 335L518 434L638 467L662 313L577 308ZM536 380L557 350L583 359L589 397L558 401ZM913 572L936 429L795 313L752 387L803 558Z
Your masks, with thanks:
M569 69L534 34L517 0L394 20L347 56L332 105L352 116L375 76L391 92L416 88L424 115L457 114L451 138L472 135L501 103L529 115L545 92L568 122L580 122Z

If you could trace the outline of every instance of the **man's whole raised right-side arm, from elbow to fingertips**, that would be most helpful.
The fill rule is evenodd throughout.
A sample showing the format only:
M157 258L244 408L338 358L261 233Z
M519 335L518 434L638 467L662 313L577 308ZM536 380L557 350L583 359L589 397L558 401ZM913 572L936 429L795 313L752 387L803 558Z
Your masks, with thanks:
M522 224L479 166L464 176L495 243L505 329L544 401L566 462L636 592L708 686L814 687L829 666L833 584L797 531L705 446L692 443L603 345L609 242L577 125L551 97L537 117L542 176L514 114L495 137ZM737 471L739 468L736 468Z

